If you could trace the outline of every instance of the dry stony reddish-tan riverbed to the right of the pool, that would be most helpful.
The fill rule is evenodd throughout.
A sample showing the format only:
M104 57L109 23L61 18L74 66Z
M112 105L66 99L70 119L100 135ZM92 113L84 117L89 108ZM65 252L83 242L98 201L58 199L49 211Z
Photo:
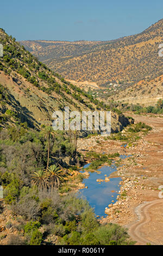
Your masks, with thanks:
M133 143L127 142L127 147L122 147L125 142L105 140L102 136L93 136L87 139L79 139L78 150L84 155L87 151L97 153L119 153L131 155L122 159L118 164L117 172L113 176L121 176L120 191L117 202L105 206L108 215L101 222L112 222L126 225L136 221L134 209L142 202L158 199L158 187L163 184L162 160L163 160L163 119L162 117L146 117L132 115L135 122L145 122L152 126L153 130L148 134L139 134L140 139ZM126 131L124 130L125 134ZM160 209L162 214L162 209ZM159 219L159 217L157 216ZM154 219L154 218L153 218ZM151 220L153 221L153 220ZM149 232L149 225L143 227L144 233ZM158 232L160 232L158 230ZM163 241L162 241L163 243Z

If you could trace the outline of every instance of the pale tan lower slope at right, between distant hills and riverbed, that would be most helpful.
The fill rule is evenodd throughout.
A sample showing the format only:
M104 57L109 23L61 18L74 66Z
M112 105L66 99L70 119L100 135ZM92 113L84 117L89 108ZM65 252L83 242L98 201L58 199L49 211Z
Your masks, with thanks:
M154 106L159 99L163 99L163 75L153 80L141 80L128 87L118 85L114 88L116 89L103 89L105 93L103 93L103 90L94 90L93 93L98 95L97 99L101 99L106 103L114 101L117 103L139 103L141 106Z

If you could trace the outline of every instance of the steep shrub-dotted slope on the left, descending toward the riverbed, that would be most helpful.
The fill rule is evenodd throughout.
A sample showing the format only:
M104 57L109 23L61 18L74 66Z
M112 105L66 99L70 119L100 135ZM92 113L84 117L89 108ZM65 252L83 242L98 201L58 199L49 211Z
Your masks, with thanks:
M109 106L93 97L35 58L16 42L15 38L0 29L0 126L27 122L40 129L41 125L52 124L52 113L64 111L107 110ZM122 129L128 119L115 109L112 113L112 131Z

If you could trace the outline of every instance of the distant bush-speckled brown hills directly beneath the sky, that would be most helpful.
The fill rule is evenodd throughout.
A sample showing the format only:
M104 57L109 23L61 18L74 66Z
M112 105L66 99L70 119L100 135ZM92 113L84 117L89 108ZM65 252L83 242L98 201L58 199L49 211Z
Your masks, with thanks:
M139 82L162 75L158 46L163 41L163 19L139 34L111 41L21 41L49 68L69 80Z

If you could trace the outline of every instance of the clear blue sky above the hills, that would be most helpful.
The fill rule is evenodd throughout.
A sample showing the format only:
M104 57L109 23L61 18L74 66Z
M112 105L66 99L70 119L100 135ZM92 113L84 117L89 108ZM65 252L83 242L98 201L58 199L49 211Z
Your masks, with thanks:
M0 27L16 40L111 40L162 19L162 0L8 0Z

